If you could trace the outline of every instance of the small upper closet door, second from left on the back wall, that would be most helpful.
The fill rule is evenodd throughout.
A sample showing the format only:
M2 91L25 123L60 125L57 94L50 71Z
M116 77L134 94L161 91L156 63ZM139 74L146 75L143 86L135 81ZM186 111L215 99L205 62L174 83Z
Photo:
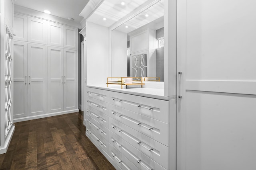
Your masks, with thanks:
M28 41L46 44L46 21L28 18Z

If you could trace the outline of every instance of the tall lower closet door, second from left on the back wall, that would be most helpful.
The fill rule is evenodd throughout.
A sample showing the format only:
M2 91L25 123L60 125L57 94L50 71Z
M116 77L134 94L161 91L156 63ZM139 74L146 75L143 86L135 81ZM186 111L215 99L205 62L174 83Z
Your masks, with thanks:
M28 115L46 113L46 46L28 44Z

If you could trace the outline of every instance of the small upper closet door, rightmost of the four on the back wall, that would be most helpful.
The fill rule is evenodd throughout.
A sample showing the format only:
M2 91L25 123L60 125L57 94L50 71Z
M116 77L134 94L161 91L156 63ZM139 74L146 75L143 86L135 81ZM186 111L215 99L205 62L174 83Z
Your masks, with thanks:
M64 47L76 49L78 36L77 29L64 26L63 30Z

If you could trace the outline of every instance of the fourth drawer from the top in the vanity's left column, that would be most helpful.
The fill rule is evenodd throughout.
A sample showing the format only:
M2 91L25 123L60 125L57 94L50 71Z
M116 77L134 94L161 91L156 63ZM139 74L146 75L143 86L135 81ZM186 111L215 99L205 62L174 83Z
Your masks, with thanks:
M94 131L97 131L100 136L104 137L106 140L108 140L108 129L103 126L102 124L98 123L95 119L90 117L90 115L87 115L87 127L89 129L93 129Z

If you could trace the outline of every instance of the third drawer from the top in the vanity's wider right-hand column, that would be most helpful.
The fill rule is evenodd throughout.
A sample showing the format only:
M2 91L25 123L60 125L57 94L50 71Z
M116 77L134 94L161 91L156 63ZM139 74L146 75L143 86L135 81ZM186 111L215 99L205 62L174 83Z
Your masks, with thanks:
M152 160L158 162L161 166L168 167L169 149L167 146L162 145L158 141L139 133L111 117L109 118L109 125L109 143L111 143L111 135L116 138L119 136L119 140L122 139L122 141L126 141L137 150L140 150L142 153L152 158Z

